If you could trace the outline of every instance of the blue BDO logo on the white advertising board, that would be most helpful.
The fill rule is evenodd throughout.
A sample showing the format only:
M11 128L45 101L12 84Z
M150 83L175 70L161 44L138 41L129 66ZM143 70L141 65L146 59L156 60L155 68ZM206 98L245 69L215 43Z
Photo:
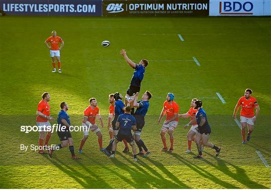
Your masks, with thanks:
M251 2L219 2L220 15L253 15L253 13L250 12L252 10L253 4Z

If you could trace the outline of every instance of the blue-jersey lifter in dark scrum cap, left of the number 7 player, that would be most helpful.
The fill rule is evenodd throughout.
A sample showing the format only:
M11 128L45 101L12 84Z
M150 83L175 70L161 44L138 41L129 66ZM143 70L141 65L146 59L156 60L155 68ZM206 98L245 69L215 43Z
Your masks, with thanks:
M118 129L116 128L116 122L117 122L117 118L119 115L124 113L125 110L125 105L123 104L123 102L121 101L123 96L119 93L116 92L113 95L114 99L115 99L115 115L114 118L112 120L112 128L113 128L113 138L110 140L108 146L106 148L103 149L104 153L109 156L110 155L110 151L112 148L112 144L114 142L115 136L118 133ZM129 103L128 103L129 105ZM124 144L125 144L125 148L122 152L128 152L129 148L128 148L128 144L126 140L123 140Z

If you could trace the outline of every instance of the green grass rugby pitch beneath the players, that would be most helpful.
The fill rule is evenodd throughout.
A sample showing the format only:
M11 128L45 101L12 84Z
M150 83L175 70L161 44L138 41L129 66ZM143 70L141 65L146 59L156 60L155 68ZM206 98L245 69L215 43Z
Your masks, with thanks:
M269 17L227 18L0 18L0 188L270 188L269 168L259 159L260 150L270 164L271 20ZM53 24L53 25L52 25ZM52 28L52 26L54 28ZM65 42L62 74L51 73L44 41L56 30ZM185 42L181 42L181 34ZM102 48L100 43L111 45ZM88 99L96 97L107 123L108 94L125 93L132 75L119 50L125 48L135 62L150 64L142 82L153 93L142 138L151 149L148 158L134 163L121 152L114 160L99 152L90 134L82 159L70 159L67 148L54 158L20 150L20 144L37 144L38 133L25 134L21 125L35 125L37 104L45 91L51 95L51 113L59 104L70 105L73 125L80 125ZM193 58L201 66L198 67ZM260 115L251 141L241 144L241 134L231 118L246 88L253 90ZM192 98L200 98L212 127L210 141L221 146L218 158L205 148L204 160L185 154L187 119L175 131L174 153L160 152L163 102L173 92L185 113ZM218 99L219 92L226 104ZM55 122L52 122L53 124ZM103 144L109 137L102 128ZM77 149L82 133L72 133ZM168 143L169 139L167 137ZM50 143L59 143L53 134ZM195 144L192 151L197 152Z

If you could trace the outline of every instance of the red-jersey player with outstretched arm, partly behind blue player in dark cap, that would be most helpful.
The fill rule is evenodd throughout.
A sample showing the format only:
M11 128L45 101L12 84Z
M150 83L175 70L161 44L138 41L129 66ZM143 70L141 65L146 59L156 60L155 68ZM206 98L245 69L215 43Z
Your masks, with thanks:
M196 113L197 113L197 110L194 109L194 106L195 106L195 101L197 101L196 98L192 99L191 101L191 108L188 110L188 112L186 112L185 114L179 114L179 117L181 118L187 118L187 117L190 117L190 122L187 123L184 128L186 129L187 127L189 127L190 125L191 128L190 130L188 131L187 133L187 143L188 143L188 149L186 150L186 153L190 153L191 152L191 144L192 144L192 140L195 142L195 135L198 133L198 131L195 129L198 124L197 124L197 121L195 121L195 117L196 117ZM194 119L194 121L193 121Z

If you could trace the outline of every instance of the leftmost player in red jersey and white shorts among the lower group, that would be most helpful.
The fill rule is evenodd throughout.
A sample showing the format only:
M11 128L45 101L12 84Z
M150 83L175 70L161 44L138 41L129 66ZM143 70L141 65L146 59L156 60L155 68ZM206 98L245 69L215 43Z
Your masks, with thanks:
M39 137L39 146L40 147L43 147L43 140L44 140L46 131L47 131L47 134L46 134L45 143L44 143L45 147L48 146L48 142L49 142L50 137L52 135L51 124L48 120L53 121L54 118L50 116L50 106L48 104L49 101L50 101L50 94L48 92L43 93L42 100L39 102L38 109L37 109L36 122L37 122L37 126L39 127L39 131L40 131L40 137ZM39 153L40 154L45 153L43 148L39 150Z

